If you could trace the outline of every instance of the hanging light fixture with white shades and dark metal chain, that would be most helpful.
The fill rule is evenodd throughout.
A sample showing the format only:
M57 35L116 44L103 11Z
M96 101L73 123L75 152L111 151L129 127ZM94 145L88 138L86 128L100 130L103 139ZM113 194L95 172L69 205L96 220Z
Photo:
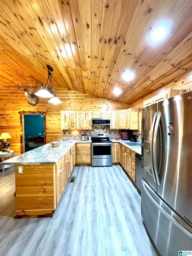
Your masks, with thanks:
M42 83L41 90L39 90L38 92L35 92L35 95L42 97L42 98L51 98L48 102L53 103L53 104L60 104L62 103L57 97L56 94L53 90L53 85L52 85L52 76L51 76L51 72L53 71L53 68L49 65L47 65L48 68L48 78L47 78L47 82L44 85Z

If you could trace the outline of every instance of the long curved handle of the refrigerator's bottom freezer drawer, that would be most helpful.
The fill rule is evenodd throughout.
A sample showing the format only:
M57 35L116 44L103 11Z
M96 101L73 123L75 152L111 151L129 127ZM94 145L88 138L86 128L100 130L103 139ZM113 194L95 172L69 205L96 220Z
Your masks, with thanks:
M187 223L182 220L182 218L177 215L164 201L152 190L152 188L147 184L147 182L142 177L143 189L146 192L149 199L155 206L180 230L182 230L187 236L192 238L192 228L187 225ZM158 201L158 202L157 202Z

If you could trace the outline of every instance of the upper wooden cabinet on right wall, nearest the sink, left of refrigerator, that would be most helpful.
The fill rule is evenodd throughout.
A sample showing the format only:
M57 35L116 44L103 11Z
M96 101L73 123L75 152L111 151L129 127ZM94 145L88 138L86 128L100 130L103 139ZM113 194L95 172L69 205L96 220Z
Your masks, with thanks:
M139 129L139 110L136 107L127 110L127 129Z

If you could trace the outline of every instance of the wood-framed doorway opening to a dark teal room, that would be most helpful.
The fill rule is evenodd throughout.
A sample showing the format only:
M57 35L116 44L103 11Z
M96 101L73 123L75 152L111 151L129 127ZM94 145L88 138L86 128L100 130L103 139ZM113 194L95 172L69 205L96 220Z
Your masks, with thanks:
M46 144L46 112L19 112L21 154Z

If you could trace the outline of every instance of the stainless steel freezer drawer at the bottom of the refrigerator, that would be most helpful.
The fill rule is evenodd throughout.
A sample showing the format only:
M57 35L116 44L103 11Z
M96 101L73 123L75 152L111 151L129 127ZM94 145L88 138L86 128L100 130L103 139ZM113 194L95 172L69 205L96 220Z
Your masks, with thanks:
M162 256L192 251L192 227L155 193L142 178L141 215Z

